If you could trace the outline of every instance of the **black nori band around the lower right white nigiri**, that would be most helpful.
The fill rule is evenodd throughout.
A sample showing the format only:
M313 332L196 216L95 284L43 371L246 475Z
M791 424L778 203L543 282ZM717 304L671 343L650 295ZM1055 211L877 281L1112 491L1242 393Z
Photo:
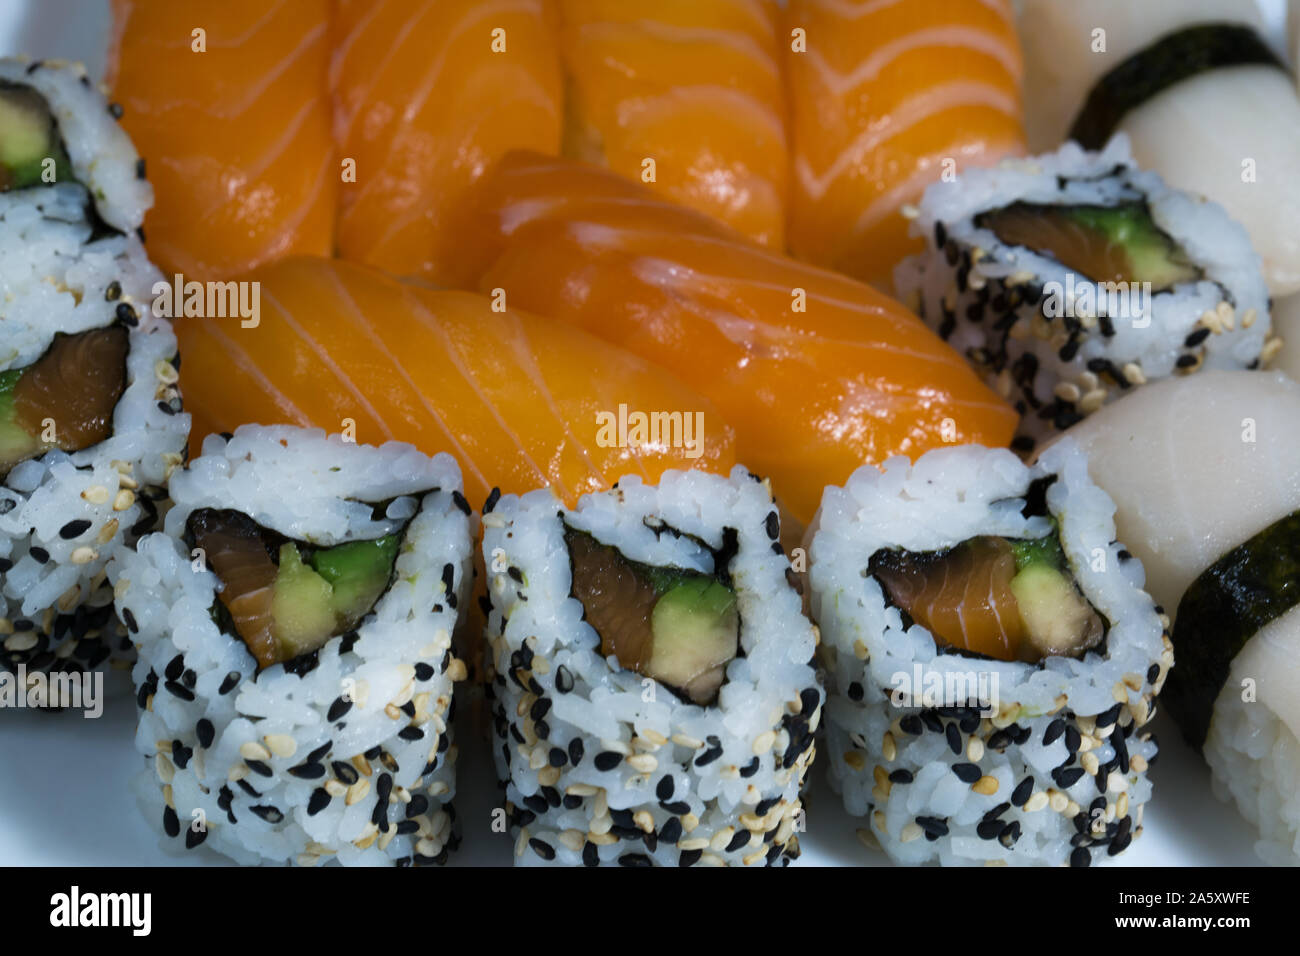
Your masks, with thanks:
M1175 666L1161 695L1200 750L1232 659L1269 622L1300 604L1300 511L1210 564L1178 602Z

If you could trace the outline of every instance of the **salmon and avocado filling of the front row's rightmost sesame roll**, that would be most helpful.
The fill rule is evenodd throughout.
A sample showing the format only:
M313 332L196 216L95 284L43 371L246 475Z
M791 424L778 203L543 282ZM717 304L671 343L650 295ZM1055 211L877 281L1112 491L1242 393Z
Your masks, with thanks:
M1056 532L984 535L944 551L880 550L867 572L942 646L998 661L1080 657L1105 622L1079 591Z

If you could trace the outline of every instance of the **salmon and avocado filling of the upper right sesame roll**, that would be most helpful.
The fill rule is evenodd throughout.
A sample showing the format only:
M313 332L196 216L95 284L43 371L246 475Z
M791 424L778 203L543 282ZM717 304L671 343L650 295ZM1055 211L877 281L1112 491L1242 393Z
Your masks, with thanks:
M1093 282L1150 282L1153 291L1204 277L1187 251L1152 219L1144 200L1117 206L1017 202L982 212L975 225L1008 246L1050 256Z

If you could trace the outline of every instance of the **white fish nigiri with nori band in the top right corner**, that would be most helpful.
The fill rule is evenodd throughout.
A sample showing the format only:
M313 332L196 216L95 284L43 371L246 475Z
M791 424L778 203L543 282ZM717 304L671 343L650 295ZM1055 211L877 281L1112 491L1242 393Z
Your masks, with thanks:
M1273 295L1300 291L1300 98L1258 4L1026 0L1030 148L1126 134L1143 169L1219 203Z

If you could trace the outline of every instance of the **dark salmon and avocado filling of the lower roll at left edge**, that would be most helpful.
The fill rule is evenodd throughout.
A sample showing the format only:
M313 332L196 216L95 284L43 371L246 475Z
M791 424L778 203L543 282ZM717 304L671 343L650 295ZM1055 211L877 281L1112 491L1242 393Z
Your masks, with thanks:
M121 325L60 332L36 362L0 372L0 477L51 449L81 451L107 440L126 392L129 349Z

